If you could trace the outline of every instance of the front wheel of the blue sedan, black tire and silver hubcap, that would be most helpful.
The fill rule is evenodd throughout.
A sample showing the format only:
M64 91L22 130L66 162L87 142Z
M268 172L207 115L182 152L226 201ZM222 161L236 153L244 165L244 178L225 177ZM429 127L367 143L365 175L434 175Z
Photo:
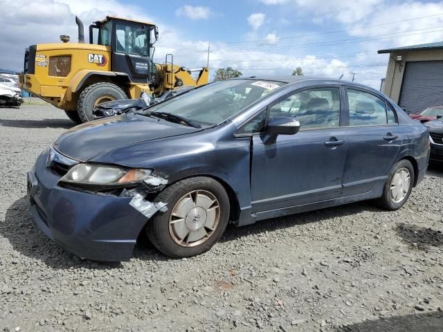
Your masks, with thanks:
M190 199L197 204L189 203ZM167 203L168 211L154 214L145 230L151 243L169 257L191 257L210 250L228 225L228 194L213 178L199 176L179 181L166 187L155 201ZM188 225L196 229L191 231ZM207 235L199 239L204 232Z

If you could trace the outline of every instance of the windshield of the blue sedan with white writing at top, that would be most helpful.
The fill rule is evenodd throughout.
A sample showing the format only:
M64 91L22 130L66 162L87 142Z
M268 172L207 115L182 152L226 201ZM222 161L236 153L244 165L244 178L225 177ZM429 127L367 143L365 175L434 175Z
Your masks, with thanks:
M282 85L260 80L215 82L155 105L150 111L171 113L211 126L224 122Z

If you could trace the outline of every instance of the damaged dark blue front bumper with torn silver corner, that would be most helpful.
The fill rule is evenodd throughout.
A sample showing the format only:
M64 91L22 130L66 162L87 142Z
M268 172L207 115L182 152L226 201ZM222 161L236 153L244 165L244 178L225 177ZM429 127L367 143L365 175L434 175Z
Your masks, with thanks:
M61 187L60 174L41 154L28 173L28 199L33 219L47 237L75 255L97 261L128 260L138 234L163 203L141 194L115 196Z

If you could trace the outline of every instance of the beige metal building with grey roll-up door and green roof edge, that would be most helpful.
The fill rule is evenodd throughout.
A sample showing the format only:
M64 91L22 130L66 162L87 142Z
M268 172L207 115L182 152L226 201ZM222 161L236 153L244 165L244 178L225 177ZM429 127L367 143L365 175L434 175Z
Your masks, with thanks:
M390 53L382 92L408 113L443 105L443 42L379 50Z

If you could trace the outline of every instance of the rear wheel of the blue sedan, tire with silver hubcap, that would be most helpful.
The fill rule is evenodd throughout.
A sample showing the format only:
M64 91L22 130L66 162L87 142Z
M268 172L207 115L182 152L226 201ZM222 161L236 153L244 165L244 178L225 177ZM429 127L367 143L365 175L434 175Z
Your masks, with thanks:
M396 177L397 174L400 178ZM408 181L401 180L401 178L405 178L405 174ZM383 195L379 199L381 208L390 211L401 208L408 201L410 192L413 190L414 176L414 167L409 160L400 160L392 166L383 188ZM392 191L394 187L397 189Z

